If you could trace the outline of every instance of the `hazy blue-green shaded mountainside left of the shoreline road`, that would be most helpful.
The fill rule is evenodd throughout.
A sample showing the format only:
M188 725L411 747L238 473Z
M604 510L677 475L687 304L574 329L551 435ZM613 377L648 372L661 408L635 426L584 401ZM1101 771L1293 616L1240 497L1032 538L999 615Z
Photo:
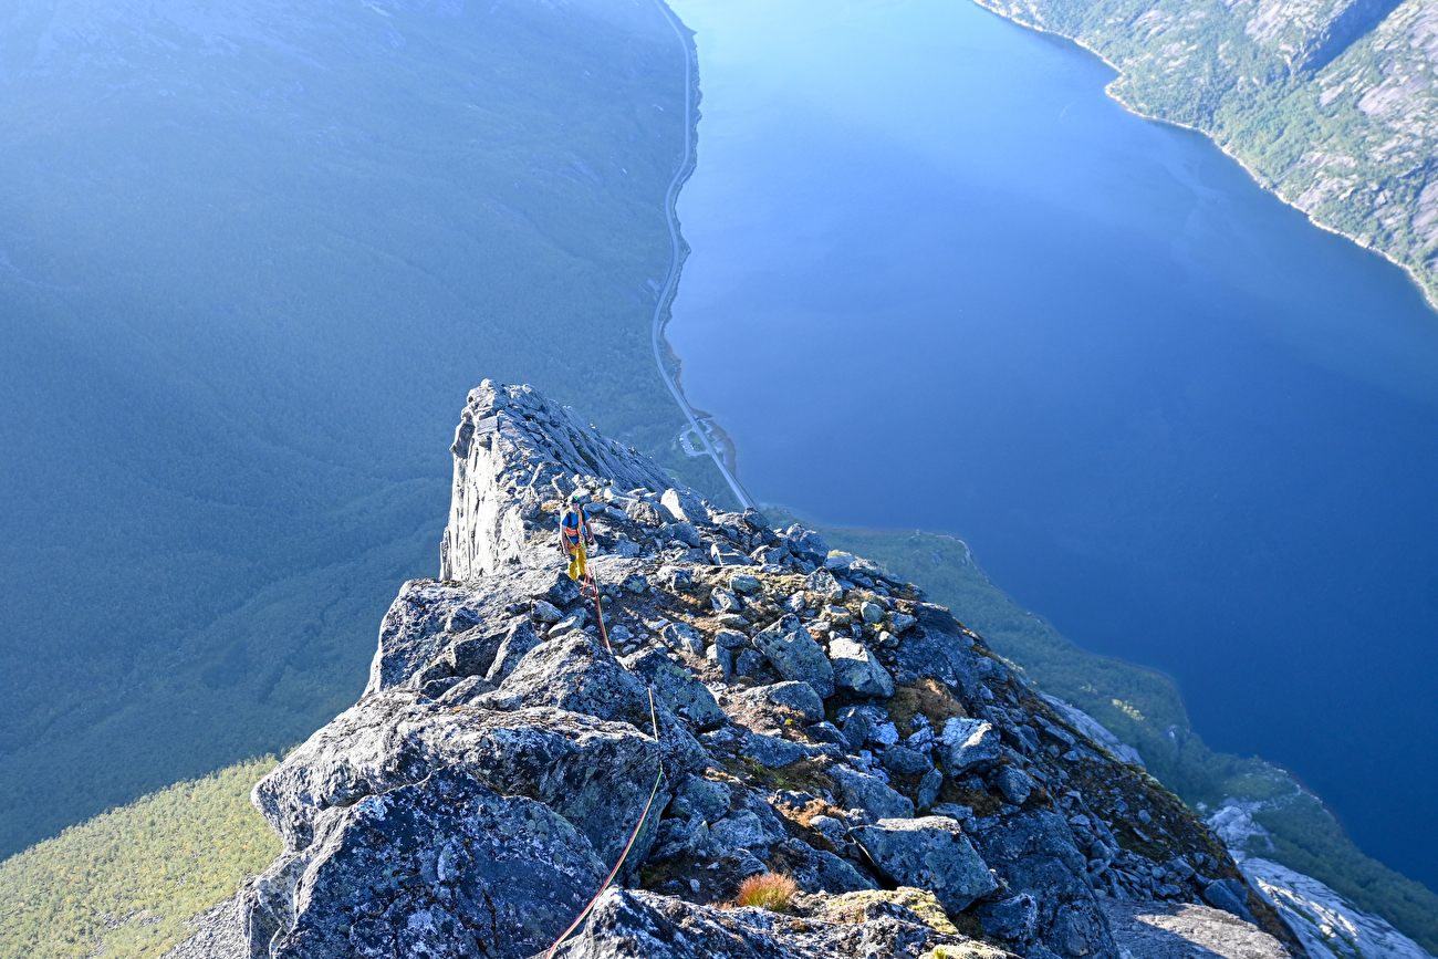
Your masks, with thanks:
M687 36L654 0L7 9L0 857L354 700L479 368L667 449Z

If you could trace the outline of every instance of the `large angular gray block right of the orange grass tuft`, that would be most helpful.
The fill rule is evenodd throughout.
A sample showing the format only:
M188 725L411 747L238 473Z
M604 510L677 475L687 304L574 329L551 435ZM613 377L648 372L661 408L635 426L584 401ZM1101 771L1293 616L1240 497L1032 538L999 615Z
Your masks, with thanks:
M884 876L900 886L930 890L951 914L998 889L959 824L942 815L879 820L850 834Z

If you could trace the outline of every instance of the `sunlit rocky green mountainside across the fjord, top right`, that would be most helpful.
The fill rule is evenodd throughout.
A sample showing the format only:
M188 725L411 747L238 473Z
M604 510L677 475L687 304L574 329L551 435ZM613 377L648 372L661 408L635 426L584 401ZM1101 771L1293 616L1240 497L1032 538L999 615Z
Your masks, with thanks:
M1434 0L979 0L1071 37L1130 109L1194 127L1438 305Z

